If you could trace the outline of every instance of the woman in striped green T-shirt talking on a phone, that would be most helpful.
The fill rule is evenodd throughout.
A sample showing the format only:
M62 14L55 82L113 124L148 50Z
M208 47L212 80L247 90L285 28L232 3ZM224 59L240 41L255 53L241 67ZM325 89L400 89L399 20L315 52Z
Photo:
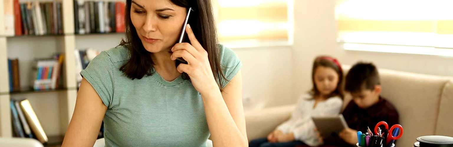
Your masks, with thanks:
M190 44L176 43L188 8ZM210 0L126 0L125 16L126 41L81 72L63 147L92 147L102 120L106 147L248 146L242 64L217 44Z

